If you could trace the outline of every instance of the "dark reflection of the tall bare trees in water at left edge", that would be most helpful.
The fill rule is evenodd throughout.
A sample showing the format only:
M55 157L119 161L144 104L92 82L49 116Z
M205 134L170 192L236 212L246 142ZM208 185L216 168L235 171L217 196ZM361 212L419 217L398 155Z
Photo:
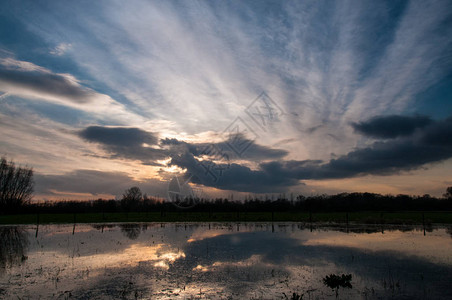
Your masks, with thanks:
M28 234L21 227L0 227L0 272L27 260Z

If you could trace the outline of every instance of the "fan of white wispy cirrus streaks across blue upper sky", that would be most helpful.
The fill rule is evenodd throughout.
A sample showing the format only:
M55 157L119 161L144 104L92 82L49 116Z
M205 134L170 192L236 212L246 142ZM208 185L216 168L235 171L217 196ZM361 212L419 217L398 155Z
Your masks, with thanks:
M186 3L183 9L173 2L113 2L96 4L100 16L65 5L48 19L36 7L40 27L31 30L49 39L50 28L71 36L70 57L81 68L144 112L178 119L176 126L191 133L222 130L266 90L300 116L283 132L309 141L309 155L325 157L357 142L349 122L403 111L447 72L451 35L436 30L448 31L441 27L447 7L445 1L426 7ZM314 136L298 130L319 124L326 130Z

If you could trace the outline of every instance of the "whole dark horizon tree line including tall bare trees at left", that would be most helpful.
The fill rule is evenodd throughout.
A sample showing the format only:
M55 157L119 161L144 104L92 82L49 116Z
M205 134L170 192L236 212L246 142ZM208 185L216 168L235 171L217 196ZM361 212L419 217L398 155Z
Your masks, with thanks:
M138 187L126 190L120 200L31 202L33 170L0 160L1 213L84 213L84 212L155 212L178 211L181 205L161 198L148 197ZM443 197L381 195L376 193L340 193L336 195L291 196L277 199L247 197L244 201L228 198L184 198L186 210L197 212L353 212L353 211L452 211L452 187ZM178 203L180 204L180 203Z

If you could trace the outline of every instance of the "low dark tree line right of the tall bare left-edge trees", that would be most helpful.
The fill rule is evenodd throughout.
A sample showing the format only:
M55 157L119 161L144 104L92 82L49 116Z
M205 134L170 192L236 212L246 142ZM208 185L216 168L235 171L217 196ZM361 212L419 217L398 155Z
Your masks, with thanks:
M452 192L452 187L448 188ZM380 195L375 193L340 193L336 195L298 196L275 200L248 198L247 200L185 199L194 203L186 211L194 212L354 212L354 211L452 211L452 193L437 198L429 195ZM23 212L29 213L108 213L181 211L169 200L142 195L138 187L127 190L120 200L55 201L28 203Z

